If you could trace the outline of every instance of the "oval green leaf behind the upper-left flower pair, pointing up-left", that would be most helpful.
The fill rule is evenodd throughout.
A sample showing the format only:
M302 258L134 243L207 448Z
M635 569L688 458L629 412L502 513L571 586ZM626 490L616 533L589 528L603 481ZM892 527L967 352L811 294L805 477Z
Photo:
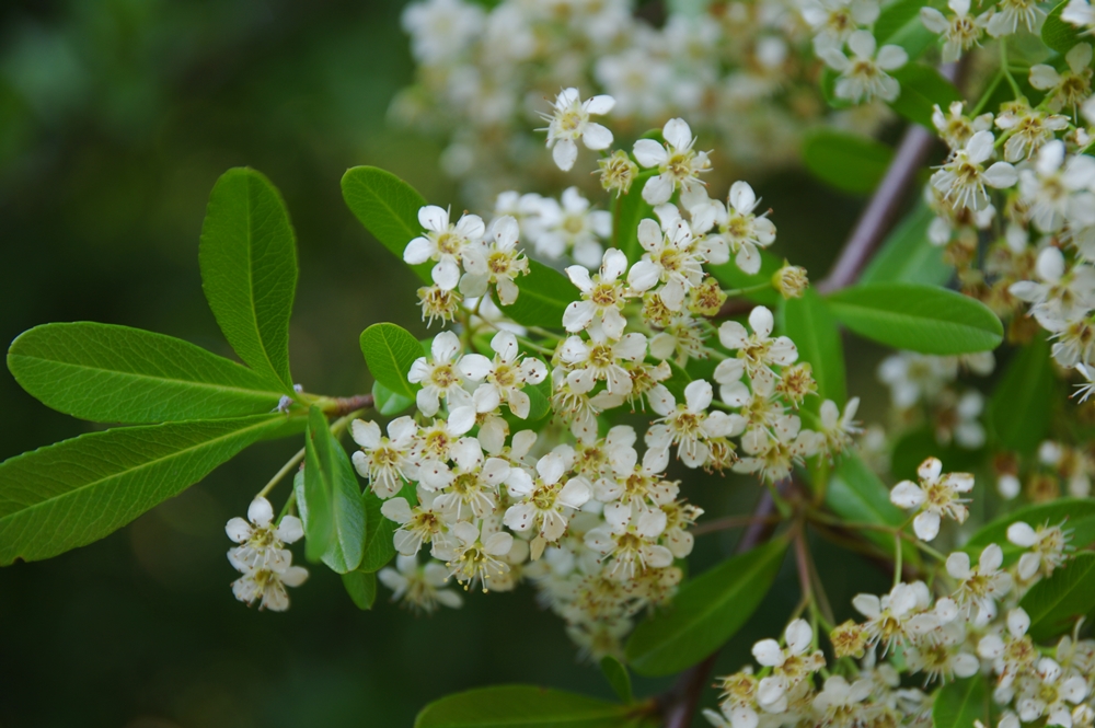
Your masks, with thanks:
M407 243L422 234L418 210L426 206L426 198L391 172L374 166L347 170L342 187L346 206L365 229L402 261ZM410 267L426 284L433 282L429 263Z

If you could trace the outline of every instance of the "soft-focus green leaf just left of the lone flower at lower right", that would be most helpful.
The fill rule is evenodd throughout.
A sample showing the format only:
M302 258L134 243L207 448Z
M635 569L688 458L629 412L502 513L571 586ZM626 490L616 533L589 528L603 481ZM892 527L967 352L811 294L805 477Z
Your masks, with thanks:
M857 455L849 454L833 470L826 488L826 505L850 522L900 525L907 520L904 511L890 502L889 488ZM888 554L894 553L894 536L885 531L862 531L863 538ZM915 563L912 544L901 544L902 554Z

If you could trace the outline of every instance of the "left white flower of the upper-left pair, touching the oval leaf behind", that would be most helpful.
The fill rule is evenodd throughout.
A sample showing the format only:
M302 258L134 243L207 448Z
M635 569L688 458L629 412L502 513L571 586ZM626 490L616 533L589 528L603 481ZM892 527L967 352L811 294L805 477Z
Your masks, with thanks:
M426 234L407 243L403 259L412 265L437 261L431 276L441 290L451 291L460 282L460 267L471 275L486 275L482 240L486 227L477 215L464 215L457 224L449 222L449 211L436 205L418 210L418 223Z

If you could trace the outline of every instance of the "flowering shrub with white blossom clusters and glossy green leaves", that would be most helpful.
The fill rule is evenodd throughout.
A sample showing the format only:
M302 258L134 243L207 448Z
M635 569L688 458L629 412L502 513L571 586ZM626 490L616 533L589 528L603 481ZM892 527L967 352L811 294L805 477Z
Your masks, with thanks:
M297 259L280 197L258 172L227 172L199 259L245 366L107 324L20 336L8 362L28 392L128 426L0 465L0 562L90 543L249 444L303 434L247 519L227 524L240 601L287 609L287 587L308 576L301 556L342 575L364 610L378 581L420 612L525 582L621 701L495 686L442 697L418 726L688 725L713 656L788 553L800 600L780 639L757 635L759 667L718 678L718 709L702 710L711 724L1092 726L1095 160L1084 124L1095 100L1082 32L1095 23L1084 0L1049 10L710 3L643 30L622 2L411 5L422 82L472 134L527 140L510 128L517 96L578 79L585 88L563 85L538 108L537 153L555 167L549 180L596 161L600 189L566 177L558 198L503 190L458 216L388 172L349 170L345 200L420 279L431 335L366 328L372 392L338 397L289 370ZM748 28L760 35L739 43ZM662 44L665 57L649 53ZM918 60L933 45L944 62L980 63L964 83L976 101ZM670 67L685 49L695 54ZM486 69L503 78L476 76ZM724 81L733 96L750 73L800 82L807 69L819 99L844 111L804 118L840 123L855 104L909 122L897 152L832 124L806 139L816 174L877 187L816 286L776 257L776 213L748 182L723 184L721 148L698 147L687 120L705 131L726 122L712 111L725 99L707 99ZM625 72L656 82L627 86ZM586 96L595 83L607 93ZM761 95L750 119L788 102ZM454 134L468 143L466 128ZM948 151L883 244L935 137ZM895 350L878 368L885 424L855 419L869 388L846 378L842 327ZM998 347L1003 371L970 381L995 374ZM757 481L756 511L711 513L714 498L682 497L698 471ZM737 555L685 576L698 535L740 527ZM838 624L815 536L873 557L890 590L855 596L858 616ZM288 546L301 539L295 564ZM681 686L636 698L629 669L680 672Z

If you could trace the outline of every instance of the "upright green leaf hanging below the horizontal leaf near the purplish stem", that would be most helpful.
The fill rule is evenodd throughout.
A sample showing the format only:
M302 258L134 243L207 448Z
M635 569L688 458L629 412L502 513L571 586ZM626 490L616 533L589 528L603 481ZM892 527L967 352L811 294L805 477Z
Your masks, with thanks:
M808 401L817 412L823 400L843 406L848 400L844 383L844 347L840 340L837 320L828 305L814 289L806 289L803 298L784 303L784 331L798 347L798 360L808 361L818 383L818 395Z

